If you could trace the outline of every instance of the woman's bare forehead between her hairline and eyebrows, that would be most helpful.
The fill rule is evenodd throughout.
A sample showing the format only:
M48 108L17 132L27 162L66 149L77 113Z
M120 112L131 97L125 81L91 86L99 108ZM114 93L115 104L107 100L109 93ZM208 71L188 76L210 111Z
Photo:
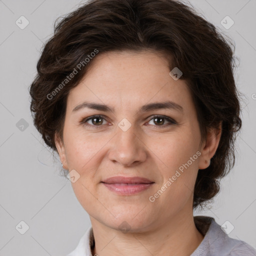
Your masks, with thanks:
M129 108L149 101L184 104L191 100L186 81L169 75L168 61L160 53L106 52L92 61L80 83L69 92L69 108L85 99Z

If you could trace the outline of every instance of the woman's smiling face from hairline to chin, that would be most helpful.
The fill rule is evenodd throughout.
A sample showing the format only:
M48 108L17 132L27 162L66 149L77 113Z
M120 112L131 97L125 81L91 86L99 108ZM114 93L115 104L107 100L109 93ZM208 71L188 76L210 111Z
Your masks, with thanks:
M217 142L200 143L186 82L169 72L157 52L102 53L68 94L63 141L56 138L56 146L63 167L79 176L71 183L77 199L101 224L118 229L126 221L142 231L192 211L198 168L208 166ZM170 103L151 105L164 102ZM102 182L113 176L151 183Z

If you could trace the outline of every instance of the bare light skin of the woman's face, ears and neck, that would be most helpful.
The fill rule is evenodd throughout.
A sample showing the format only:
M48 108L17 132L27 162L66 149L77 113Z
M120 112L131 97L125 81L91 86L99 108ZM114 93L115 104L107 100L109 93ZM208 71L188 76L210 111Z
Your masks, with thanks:
M92 255L190 255L203 239L192 210L197 171L209 165L221 132L211 129L201 141L186 81L169 75L167 60L158 52L112 51L98 54L91 64L68 94L63 141L56 133L55 143L63 167L80 175L71 184L91 220ZM72 111L85 100L106 104L115 112ZM183 111L139 112L144 104L167 100ZM97 114L106 118L82 123ZM156 114L176 123L155 120ZM131 124L126 131L118 126L123 118ZM154 202L149 201L197 151L200 156ZM154 184L134 195L118 195L100 182L117 175L146 177ZM119 227L123 221L129 225L127 232Z

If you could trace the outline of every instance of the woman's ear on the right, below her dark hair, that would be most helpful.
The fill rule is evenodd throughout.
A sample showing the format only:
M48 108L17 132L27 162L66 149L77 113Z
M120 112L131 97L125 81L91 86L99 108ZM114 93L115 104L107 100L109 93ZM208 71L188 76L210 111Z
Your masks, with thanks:
M210 158L215 154L221 136L221 122L217 128L207 130L206 138L201 144L198 168L205 169L210 165Z

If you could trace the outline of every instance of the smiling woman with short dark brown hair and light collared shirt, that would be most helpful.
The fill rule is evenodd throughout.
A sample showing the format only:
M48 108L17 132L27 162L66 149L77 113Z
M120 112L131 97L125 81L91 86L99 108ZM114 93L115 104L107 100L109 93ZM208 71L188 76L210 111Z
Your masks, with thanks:
M234 163L232 61L176 0L92 0L55 25L30 109L90 217L68 256L256 255L193 216Z

